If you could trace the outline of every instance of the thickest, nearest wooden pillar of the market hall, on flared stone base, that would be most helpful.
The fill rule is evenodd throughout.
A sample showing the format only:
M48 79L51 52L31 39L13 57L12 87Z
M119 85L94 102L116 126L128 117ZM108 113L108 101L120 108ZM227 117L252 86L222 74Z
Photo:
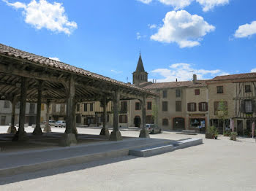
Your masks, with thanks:
M70 76L65 87L67 90L67 121L65 134L59 141L59 146L64 147L77 144L75 138L75 79L73 75Z

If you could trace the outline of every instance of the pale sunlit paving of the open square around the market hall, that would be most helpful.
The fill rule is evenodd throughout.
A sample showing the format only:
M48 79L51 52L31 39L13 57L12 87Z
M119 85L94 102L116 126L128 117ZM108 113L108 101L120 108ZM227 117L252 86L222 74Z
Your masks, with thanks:
M99 133L85 129L83 133ZM138 136L138 131L121 132ZM0 190L255 190L255 139L151 135L159 139L203 138L203 143L153 157L116 157L0 178Z

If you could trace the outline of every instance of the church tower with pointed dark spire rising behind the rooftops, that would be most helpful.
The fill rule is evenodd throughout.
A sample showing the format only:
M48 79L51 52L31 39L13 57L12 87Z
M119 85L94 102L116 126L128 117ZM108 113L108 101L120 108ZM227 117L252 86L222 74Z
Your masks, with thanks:
M132 74L133 74L132 83L134 85L139 85L141 82L148 82L148 72L144 70L141 55L137 64L136 71L134 71Z

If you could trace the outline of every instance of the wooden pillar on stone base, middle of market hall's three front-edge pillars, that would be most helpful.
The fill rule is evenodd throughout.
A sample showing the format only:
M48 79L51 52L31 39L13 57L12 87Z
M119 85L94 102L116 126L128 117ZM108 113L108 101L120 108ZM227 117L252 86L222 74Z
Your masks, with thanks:
M120 92L116 90L113 93L113 131L110 134L110 141L121 141L121 133L118 130L118 109L120 101Z

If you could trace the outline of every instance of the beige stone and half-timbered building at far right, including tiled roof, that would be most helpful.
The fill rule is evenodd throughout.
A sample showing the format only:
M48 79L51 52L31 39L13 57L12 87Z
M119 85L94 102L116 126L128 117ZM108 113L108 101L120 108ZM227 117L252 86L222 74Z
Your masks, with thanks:
M211 125L219 127L222 132L223 122L220 118L225 113L221 109L222 103L227 111L224 114L225 128L230 127L232 118L238 135L249 133L252 122L256 120L256 73L219 76L207 84Z

